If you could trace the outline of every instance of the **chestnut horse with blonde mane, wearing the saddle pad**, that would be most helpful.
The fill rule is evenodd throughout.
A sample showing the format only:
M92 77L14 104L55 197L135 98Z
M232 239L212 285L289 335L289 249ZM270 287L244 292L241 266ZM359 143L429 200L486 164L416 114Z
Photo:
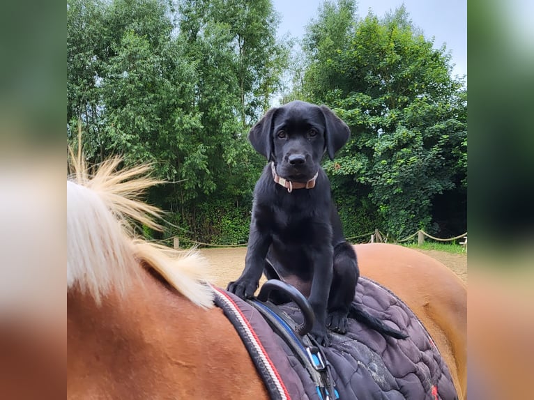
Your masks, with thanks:
M234 327L213 307L206 263L136 239L155 226L137 199L147 167L67 182L68 399L268 399ZM142 177L139 177L142 176ZM147 216L148 215L148 216ZM418 315L466 396L466 287L443 264L396 245L357 245L362 274Z

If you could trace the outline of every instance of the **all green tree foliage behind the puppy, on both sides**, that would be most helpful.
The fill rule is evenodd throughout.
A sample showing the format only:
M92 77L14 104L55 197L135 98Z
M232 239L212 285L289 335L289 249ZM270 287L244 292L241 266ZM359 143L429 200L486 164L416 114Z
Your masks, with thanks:
M347 236L461 233L465 84L404 7L357 12L354 0L326 1L290 54L270 0L68 0L68 141L81 126L90 162L119 153L171 181L149 193L169 227L146 236L244 243L265 162L246 135L282 91L351 127L324 163Z

